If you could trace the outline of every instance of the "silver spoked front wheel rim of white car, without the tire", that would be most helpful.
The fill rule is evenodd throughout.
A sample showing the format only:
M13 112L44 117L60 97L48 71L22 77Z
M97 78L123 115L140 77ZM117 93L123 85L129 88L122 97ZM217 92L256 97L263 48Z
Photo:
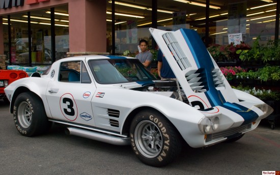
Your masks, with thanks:
M135 128L135 144L138 151L147 158L155 158L162 149L162 135L151 121L142 121Z

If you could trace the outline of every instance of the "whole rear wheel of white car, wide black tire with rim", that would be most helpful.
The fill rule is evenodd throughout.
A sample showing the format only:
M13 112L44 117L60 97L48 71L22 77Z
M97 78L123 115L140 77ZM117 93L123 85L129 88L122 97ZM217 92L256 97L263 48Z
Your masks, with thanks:
M18 132L24 136L40 135L47 132L51 126L41 99L32 92L17 96L13 116Z

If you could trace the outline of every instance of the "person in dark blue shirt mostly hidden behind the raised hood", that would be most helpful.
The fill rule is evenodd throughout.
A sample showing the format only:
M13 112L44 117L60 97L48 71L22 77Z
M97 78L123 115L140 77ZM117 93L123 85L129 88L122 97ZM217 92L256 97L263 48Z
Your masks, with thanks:
M176 78L171 67L169 66L169 63L165 59L165 56L160 49L157 52L157 73L161 80Z

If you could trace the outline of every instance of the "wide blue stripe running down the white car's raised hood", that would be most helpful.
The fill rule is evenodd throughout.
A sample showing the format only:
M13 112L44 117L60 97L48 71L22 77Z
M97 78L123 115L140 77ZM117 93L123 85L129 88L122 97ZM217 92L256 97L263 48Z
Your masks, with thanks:
M193 56L195 63L199 69L203 69L205 73L206 83L208 84L208 91L205 92L211 106L221 106L223 104L223 97L215 88L212 70L214 69L211 57L200 39L198 33L193 30L185 28L180 29L189 49ZM221 98L222 97L222 98Z

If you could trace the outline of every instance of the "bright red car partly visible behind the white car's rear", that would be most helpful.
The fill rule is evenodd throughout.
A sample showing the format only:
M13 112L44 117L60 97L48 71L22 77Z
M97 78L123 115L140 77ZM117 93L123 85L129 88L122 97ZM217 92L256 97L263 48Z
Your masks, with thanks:
M7 99L4 89L11 84L13 81L20 78L28 77L27 73L21 70L4 70L0 67L0 99L5 102L9 102ZM10 102L9 102L10 103Z

